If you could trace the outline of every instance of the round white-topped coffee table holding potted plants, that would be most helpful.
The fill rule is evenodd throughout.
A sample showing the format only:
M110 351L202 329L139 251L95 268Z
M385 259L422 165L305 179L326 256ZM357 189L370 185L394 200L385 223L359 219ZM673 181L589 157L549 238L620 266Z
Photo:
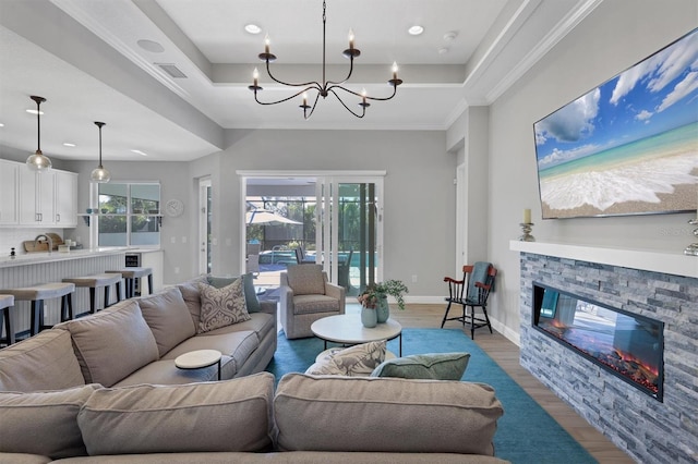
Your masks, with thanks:
M325 350L327 350L327 342L357 345L399 337L399 356L402 356L402 326L393 319L369 329L361 323L360 314L341 314L317 319L310 326L310 330L325 342Z

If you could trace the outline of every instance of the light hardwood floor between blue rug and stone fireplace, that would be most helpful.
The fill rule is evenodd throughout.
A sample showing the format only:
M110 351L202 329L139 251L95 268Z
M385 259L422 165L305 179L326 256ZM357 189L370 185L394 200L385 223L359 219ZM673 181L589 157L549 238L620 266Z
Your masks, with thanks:
M444 317L444 310L445 305L410 304L404 312L392 305L390 317L399 321L402 327L438 328ZM461 328L462 326L458 321L449 321L444 327ZM466 334L470 337L469 329ZM490 334L486 328L476 330L474 341L599 463L634 463L624 451L589 425L570 406L520 366L519 347L516 344L496 331Z

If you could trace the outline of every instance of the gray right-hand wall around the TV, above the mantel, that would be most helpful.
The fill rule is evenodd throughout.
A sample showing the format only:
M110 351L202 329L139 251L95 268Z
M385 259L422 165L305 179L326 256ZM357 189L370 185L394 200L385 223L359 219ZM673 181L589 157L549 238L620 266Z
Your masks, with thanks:
M524 208L539 242L683 253L695 213L541 220L532 124L696 27L695 0L615 0L599 5L490 107L489 257L501 273L494 318L518 337L519 254Z

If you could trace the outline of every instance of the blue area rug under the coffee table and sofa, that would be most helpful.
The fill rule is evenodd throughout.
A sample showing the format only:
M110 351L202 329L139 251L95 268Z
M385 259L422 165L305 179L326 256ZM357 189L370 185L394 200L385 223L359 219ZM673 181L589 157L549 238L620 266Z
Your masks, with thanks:
M277 378L303 373L323 351L320 339L287 340L281 332L274 359L266 368ZM398 340L388 350L399 352ZM470 362L462 380L489 383L504 406L497 422L494 449L497 457L514 464L587 464L597 461L533 401L492 358L459 329L405 329L402 355L468 352Z

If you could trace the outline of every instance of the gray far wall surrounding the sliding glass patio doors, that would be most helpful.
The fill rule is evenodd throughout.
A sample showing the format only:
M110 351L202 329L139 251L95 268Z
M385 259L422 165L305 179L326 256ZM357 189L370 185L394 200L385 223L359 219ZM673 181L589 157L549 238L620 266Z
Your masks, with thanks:
M216 271L239 271L237 170L385 170L384 278L405 281L414 296L443 294L443 277L455 262L456 167L444 132L229 131L229 136L220 154L221 182L214 184L222 209Z

